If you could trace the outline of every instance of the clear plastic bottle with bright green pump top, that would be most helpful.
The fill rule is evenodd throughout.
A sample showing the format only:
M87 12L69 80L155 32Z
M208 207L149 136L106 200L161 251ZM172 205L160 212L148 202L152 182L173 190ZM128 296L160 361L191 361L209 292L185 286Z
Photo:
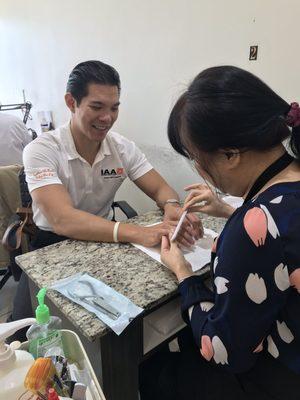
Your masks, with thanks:
M46 288L41 289L38 294L39 305L35 310L36 323L32 325L27 333L29 351L34 358L47 355L64 356L61 339L61 319L50 317L49 308L44 304Z

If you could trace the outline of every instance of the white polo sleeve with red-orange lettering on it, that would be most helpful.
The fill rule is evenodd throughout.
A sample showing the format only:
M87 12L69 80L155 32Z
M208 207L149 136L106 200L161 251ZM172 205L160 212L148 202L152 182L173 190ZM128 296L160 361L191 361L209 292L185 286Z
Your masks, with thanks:
M62 184L58 176L57 151L39 138L25 147L23 164L30 193L43 186Z

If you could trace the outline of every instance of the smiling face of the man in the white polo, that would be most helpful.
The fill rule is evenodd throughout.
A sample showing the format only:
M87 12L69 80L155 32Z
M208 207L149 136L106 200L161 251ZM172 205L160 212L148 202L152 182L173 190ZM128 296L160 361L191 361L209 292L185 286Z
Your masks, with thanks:
M119 91L117 86L88 85L88 94L73 108L73 128L91 141L102 142L118 118Z

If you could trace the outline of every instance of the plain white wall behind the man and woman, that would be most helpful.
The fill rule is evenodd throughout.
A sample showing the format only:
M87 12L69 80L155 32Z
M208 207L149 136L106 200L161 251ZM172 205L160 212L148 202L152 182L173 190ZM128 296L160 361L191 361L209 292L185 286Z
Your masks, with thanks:
M0 0L0 101L19 102L25 89L33 117L52 110L59 125L68 118L68 73L100 59L121 75L116 129L161 164L152 145L168 147L171 105L205 67L244 67L286 100L299 100L299 15L299 0ZM250 62L255 44L258 60ZM173 161L181 173L173 170L169 180L178 189L196 179ZM168 165L162 169L168 175ZM140 211L150 207L128 185L125 196L134 196Z

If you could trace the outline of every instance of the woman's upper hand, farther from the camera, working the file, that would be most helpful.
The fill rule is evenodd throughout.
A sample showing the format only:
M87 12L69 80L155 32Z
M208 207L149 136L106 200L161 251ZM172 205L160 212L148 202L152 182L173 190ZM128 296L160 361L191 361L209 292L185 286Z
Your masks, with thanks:
M183 210L200 211L222 218L229 218L235 211L235 208L221 200L207 185L195 183L185 187L184 190L190 193L185 199Z

